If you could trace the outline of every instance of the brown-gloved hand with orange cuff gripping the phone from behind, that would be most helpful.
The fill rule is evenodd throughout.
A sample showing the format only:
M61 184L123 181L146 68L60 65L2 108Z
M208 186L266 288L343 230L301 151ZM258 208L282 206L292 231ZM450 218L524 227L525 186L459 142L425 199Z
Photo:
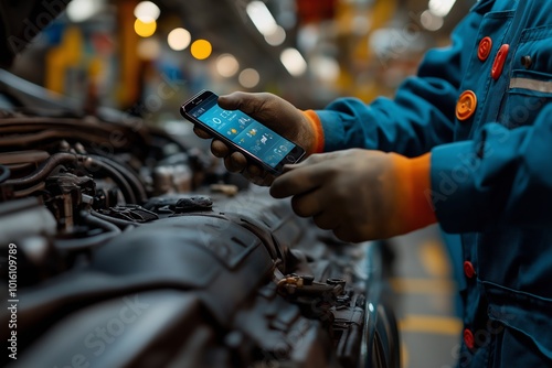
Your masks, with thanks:
M219 105L226 110L240 109L261 121L275 132L302 147L307 154L321 152L323 145L320 121L314 111L301 111L273 94L233 93L219 97ZM211 139L211 134L194 127L200 138ZM224 165L231 172L242 172L245 177L258 185L270 185L274 180L265 170L248 163L240 152L233 152L220 140L213 140L211 151L224 159Z

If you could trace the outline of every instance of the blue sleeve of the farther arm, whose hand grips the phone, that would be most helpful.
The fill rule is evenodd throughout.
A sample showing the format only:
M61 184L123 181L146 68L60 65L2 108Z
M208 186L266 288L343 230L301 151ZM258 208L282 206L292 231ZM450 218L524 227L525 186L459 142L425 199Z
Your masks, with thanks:
M416 76L407 78L394 99L370 105L341 98L316 111L325 134L325 151L365 148L421 155L453 141L454 118L464 64L480 15L469 13L452 34L452 45L426 53Z

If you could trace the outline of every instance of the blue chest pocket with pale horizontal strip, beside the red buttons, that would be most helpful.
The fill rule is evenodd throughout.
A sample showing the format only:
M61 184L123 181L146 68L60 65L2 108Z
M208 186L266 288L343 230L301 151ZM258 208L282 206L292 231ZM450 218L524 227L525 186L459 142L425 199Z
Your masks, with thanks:
M548 25L523 32L499 121L510 129L532 125L551 101L552 25Z

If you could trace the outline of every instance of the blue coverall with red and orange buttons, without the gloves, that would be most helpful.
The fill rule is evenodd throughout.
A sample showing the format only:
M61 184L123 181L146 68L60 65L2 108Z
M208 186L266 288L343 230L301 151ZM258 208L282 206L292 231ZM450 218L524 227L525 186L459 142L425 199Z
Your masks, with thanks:
M480 0L394 99L316 112L325 151L432 152L463 243L459 365L552 367L552 1Z

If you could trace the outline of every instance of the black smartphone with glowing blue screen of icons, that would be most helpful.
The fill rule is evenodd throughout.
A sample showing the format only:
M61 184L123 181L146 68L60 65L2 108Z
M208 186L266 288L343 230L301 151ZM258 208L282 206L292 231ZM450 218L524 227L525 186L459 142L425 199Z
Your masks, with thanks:
M285 164L305 156L301 147L240 110L224 110L217 99L214 93L203 90L185 101L180 113L273 175L282 174Z

